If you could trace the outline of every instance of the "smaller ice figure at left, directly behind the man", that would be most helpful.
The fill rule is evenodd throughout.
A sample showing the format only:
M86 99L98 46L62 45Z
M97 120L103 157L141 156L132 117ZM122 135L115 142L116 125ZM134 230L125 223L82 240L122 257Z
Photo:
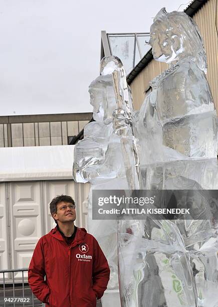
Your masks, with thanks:
M114 57L103 59L101 75L89 86L95 121L85 126L84 139L75 146L73 165L74 180L91 183L88 199L88 230L97 238L107 257L111 270L109 289L118 289L116 221L92 221L92 190L128 189L120 137L114 133L112 124L112 113L117 108L112 73L120 65L119 61ZM123 73L125 74L124 70ZM117 77L116 71L114 77ZM123 80L126 82L125 77ZM125 98L130 101L129 106L133 112L131 93L127 85L126 88ZM122 114L120 116L122 117ZM128 156L126 157L128 159Z

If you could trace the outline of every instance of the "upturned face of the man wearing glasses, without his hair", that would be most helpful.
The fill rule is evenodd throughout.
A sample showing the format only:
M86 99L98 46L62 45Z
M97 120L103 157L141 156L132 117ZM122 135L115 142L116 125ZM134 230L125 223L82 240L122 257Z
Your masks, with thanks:
M61 223L74 222L76 219L75 205L68 202L57 204L57 213L53 213L53 218Z

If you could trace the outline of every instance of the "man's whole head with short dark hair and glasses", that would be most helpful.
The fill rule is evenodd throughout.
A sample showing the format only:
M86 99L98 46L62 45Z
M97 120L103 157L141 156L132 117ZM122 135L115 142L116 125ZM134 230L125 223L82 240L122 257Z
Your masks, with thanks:
M50 203L50 212L56 224L74 222L76 219L75 202L71 196L58 195Z

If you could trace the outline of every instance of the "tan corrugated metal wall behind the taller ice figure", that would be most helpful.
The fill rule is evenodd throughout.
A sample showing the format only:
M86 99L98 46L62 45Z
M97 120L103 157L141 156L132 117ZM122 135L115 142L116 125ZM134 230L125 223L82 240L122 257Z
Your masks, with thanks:
M218 110L218 38L215 28L216 0L208 0L202 8L193 16L204 40L207 55L207 79ZM145 91L149 87L149 81L167 68L165 63L152 60L133 80L131 90L135 109L139 109L144 98Z

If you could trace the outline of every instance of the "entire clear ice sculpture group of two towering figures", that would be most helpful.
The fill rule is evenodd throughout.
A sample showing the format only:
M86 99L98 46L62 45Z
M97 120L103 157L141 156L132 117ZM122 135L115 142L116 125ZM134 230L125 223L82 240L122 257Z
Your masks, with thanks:
M121 305L215 307L217 224L214 218L197 218L201 204L210 200L192 193L217 189L216 113L205 77L205 51L193 20L165 9L154 19L150 44L154 59L169 68L151 81L152 92L139 114L132 108L120 61L102 60L101 76L90 85L96 122L85 127L84 140L76 145L74 178L98 189L190 190L185 201L192 204L192 220L148 216L118 222ZM215 197L212 202L216 211ZM115 222L89 221L115 276Z

